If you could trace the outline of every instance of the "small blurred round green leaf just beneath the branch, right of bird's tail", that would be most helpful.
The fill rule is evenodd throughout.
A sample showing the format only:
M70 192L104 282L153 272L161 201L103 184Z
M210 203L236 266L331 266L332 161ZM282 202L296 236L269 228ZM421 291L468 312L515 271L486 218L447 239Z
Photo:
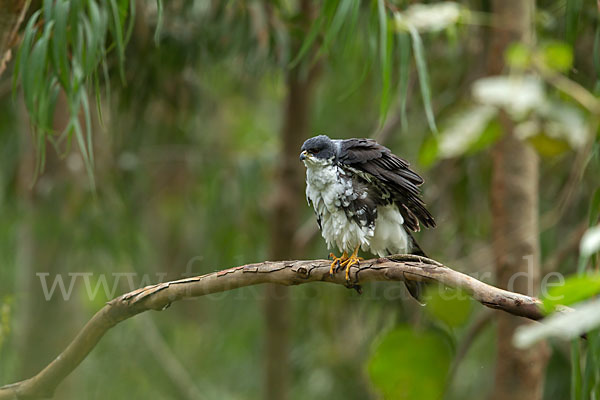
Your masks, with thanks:
M450 327L464 325L471 315L471 298L460 290L443 285L430 285L425 295L425 311Z

